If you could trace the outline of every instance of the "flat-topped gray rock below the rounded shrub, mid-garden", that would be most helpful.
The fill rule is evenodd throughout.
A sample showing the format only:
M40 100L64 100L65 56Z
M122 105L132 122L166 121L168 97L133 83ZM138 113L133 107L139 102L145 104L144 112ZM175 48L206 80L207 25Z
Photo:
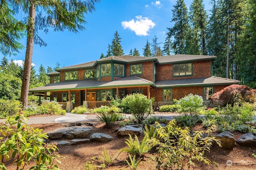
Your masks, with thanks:
M140 135L143 133L142 131L143 129L143 125L142 124L137 124L137 125L127 125L127 126L124 126L122 128L120 128L118 131L117 131L117 134L120 135L120 136L128 136L129 134L130 135Z

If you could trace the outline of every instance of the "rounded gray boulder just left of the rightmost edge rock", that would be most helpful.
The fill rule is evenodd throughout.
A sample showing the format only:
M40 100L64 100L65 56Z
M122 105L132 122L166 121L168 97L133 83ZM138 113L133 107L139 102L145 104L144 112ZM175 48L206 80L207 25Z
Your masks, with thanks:
M236 140L234 134L229 131L221 132L220 134L215 135L216 139L220 139L222 148L231 149L236 146Z

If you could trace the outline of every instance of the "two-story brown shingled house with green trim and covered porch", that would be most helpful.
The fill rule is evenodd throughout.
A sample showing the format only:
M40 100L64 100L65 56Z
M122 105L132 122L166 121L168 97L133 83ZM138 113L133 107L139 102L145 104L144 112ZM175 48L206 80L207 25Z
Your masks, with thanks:
M49 85L32 88L37 96L61 102L67 110L108 105L110 96L141 93L155 98L155 107L190 93L210 96L237 80L212 76L216 56L172 55L155 58L112 56L56 69Z

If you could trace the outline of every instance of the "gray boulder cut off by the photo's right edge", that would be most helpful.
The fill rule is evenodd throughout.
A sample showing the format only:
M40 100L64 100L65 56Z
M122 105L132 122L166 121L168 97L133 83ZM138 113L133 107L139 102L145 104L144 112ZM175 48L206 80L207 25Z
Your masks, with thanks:
M241 146L256 146L256 134L252 132L243 134L236 140L236 143Z

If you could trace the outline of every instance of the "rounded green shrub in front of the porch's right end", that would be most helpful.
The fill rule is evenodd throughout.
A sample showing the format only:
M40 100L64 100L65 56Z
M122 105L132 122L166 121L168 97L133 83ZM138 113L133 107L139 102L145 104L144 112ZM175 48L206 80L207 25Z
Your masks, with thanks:
M152 113L153 99L148 99L143 94L129 94L122 99L122 106L128 104L132 116L141 123Z

